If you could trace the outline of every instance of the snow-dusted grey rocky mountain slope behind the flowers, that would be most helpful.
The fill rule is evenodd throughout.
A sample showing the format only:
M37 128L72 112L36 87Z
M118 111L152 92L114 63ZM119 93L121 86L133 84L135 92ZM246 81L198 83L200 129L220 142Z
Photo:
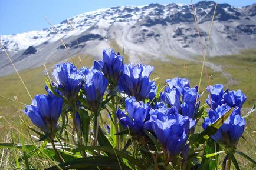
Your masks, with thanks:
M213 1L194 5L202 42L206 44L215 10ZM120 6L86 12L39 31L0 35L0 42L18 70L68 59L78 53L99 56L104 48L124 47L129 60L166 60L168 56L192 59L201 55L192 5L149 4ZM56 33L58 32L58 34ZM208 46L208 56L237 54L256 47L256 4L236 8L218 4ZM14 69L0 52L0 76Z

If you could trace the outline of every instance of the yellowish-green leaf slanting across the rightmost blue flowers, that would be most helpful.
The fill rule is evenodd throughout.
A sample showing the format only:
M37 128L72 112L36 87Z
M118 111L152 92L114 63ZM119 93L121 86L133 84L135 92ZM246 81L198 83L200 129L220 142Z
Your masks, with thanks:
M189 138L189 144L194 148L201 146L207 141L212 135L216 134L221 125L227 120L227 118L232 114L234 108L230 108L225 114L219 117L214 123L210 124L204 131L199 134L191 135Z

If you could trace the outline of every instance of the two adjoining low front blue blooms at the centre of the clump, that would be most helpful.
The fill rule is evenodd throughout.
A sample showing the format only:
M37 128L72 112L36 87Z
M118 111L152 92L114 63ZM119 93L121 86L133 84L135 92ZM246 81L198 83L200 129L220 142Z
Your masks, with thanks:
M178 94L168 95L176 98ZM153 107L136 101L134 97L126 98L126 109L127 115L120 109L117 110L121 124L140 135L143 129L152 131L170 156L178 155L184 149L190 129L196 124L188 116L179 114L176 106L168 108L163 102L158 102Z

